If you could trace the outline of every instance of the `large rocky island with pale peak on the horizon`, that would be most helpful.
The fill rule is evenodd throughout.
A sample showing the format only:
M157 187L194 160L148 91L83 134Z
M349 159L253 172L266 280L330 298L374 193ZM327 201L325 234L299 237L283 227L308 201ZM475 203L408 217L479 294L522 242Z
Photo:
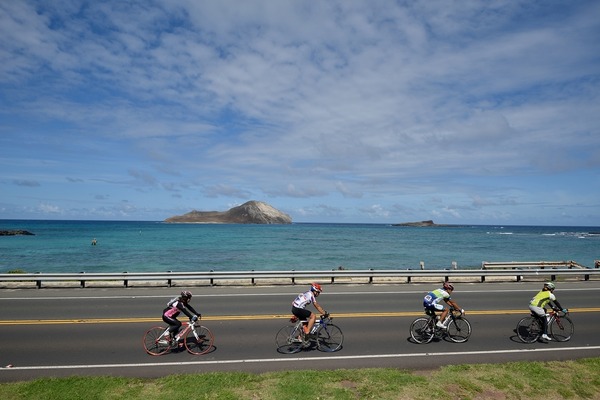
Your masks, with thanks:
M167 223L291 224L292 218L262 201L248 201L227 211L191 211L167 218Z

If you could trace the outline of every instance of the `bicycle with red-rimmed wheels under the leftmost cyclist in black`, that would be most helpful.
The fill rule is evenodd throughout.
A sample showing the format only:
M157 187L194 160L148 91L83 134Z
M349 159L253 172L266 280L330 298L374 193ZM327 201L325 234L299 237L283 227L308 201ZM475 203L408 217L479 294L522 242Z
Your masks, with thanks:
M160 356L173 349L185 347L191 354L205 354L213 348L215 340L212 332L205 326L196 322L183 322L184 328L172 338L169 327L156 326L148 329L144 334L142 343L146 353L152 356Z

